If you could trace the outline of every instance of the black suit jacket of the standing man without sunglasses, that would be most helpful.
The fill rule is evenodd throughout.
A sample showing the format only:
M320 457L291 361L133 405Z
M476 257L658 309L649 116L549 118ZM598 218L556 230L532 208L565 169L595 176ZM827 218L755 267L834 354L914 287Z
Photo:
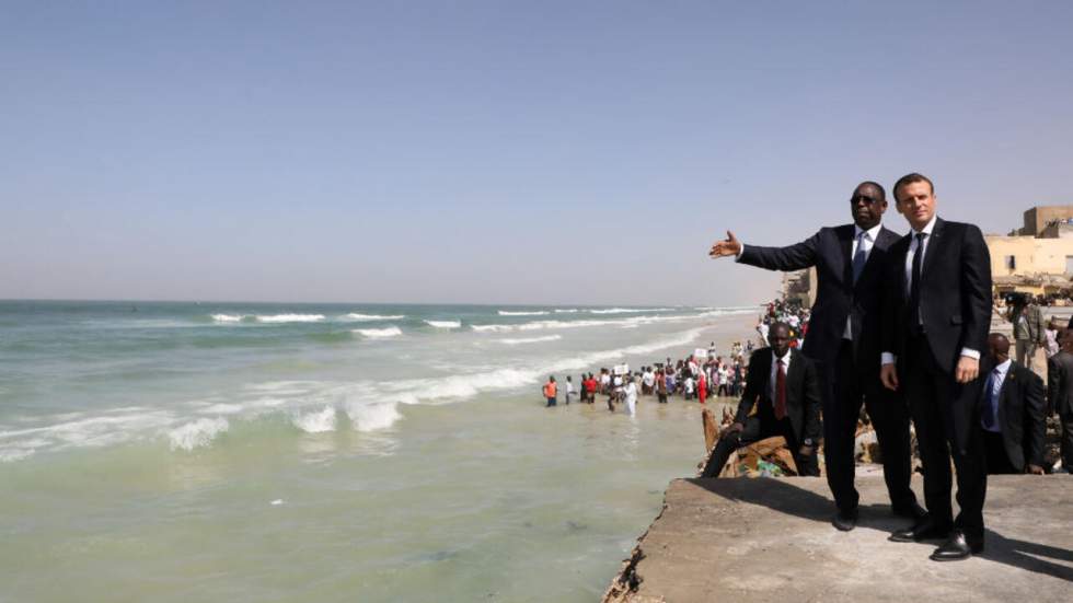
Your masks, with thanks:
M905 257L912 232L890 247L887 276L882 279L882 351L903 364L912 324ZM954 380L962 348L983 356L991 329L991 254L980 229L962 222L935 219L921 265L920 305L924 333L935 360ZM879 359L876 359L877 363ZM979 384L977 384L979 385ZM949 401L955 442L965 450L979 399L973 387L958 387Z

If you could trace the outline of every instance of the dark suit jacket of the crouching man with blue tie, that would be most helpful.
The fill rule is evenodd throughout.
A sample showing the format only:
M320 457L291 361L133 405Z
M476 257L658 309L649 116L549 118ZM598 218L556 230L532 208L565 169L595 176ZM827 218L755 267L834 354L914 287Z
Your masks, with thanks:
M980 363L980 403L984 404L989 392L984 386L995 362L987 357ZM1043 466L1043 436L1047 424L1043 416L1043 380L1017 362L1009 364L1006 379L999 390L999 426L1006 456L1017 471L1025 464Z

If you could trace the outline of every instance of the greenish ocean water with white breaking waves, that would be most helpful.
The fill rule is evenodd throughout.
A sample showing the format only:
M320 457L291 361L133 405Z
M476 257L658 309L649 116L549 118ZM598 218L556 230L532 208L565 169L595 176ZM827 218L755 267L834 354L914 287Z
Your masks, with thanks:
M0 302L0 601L591 601L700 410L541 383L755 313Z

